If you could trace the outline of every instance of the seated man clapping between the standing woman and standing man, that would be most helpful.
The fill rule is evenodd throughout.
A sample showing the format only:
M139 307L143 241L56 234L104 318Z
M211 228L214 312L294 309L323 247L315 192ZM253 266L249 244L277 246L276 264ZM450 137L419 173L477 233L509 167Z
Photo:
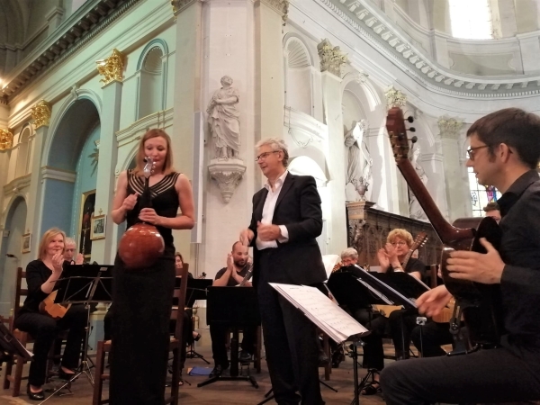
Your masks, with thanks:
M244 283L243 286L251 287L251 283L246 278L251 266L247 247L240 242L235 242L232 245L232 251L227 256L227 267L220 269L212 286L233 287ZM226 346L228 329L227 326L223 325L210 325L211 351L214 359L214 368L211 371L210 377L219 376L224 370L229 368ZM240 362L247 362L251 358L257 341L257 327L243 327L243 330L242 350L238 359Z

